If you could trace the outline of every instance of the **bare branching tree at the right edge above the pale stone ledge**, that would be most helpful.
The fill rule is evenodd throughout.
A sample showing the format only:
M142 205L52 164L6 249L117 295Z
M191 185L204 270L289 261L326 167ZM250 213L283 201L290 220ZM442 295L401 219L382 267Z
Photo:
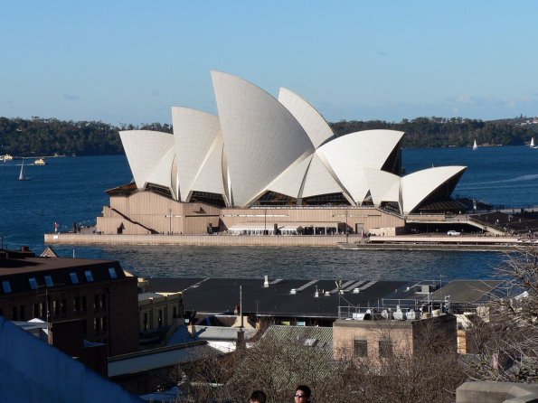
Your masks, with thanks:
M538 247L510 255L498 276L505 281L492 296L468 339L474 380L538 381ZM468 344L468 342L467 342Z

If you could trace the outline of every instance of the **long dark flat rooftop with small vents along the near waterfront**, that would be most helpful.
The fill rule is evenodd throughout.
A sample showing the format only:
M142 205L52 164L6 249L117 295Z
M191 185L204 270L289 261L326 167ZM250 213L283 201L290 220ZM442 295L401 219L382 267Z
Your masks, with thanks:
M455 280L439 291L439 281L401 280L300 280L237 278L148 278L152 292L183 292L184 310L197 313L234 313L240 305L242 313L258 316L295 318L348 317L347 307L356 308L420 308L428 301L451 304L475 304L501 282L491 280Z

